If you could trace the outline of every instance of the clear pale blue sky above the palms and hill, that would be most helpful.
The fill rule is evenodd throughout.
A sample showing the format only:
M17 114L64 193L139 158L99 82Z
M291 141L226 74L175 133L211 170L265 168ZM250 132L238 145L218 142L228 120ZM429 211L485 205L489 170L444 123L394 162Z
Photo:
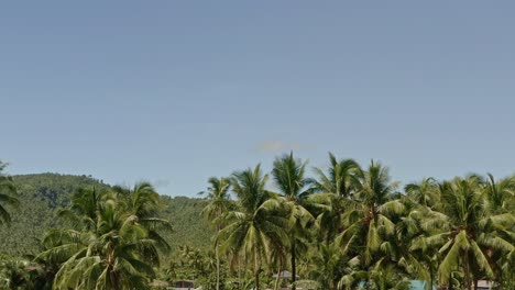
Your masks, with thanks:
M514 1L9 1L0 158L195 196L295 149L515 171Z

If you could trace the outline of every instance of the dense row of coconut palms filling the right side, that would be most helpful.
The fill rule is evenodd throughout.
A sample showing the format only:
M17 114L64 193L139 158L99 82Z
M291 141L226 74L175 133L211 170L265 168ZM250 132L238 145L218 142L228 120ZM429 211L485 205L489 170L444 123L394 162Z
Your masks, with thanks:
M275 159L273 182L260 166L232 175L234 208L217 239L253 271L242 287L513 286L515 177L425 178L402 188L382 164L333 154L327 169L306 171L291 153ZM292 275L282 279L284 270ZM260 281L266 277L276 279Z

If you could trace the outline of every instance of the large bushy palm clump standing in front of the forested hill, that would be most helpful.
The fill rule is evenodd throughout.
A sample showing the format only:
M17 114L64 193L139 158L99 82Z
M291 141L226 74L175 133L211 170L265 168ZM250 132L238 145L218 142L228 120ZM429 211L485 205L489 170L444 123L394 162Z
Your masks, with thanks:
M146 289L155 276L153 267L158 266L160 241L140 222L153 219L149 211L140 211L141 219L136 215L136 209L145 207L128 205L139 199L138 190L127 199L119 192L79 192L62 212L74 216L73 228L51 231L43 241L47 249L37 257L61 264L54 288Z

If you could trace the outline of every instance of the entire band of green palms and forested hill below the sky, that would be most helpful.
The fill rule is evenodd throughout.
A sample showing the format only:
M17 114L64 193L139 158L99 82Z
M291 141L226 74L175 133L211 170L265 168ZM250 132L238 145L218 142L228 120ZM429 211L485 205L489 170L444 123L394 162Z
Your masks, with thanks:
M0 288L513 289L515 176L401 187L380 163L329 161L310 176L291 153L270 175L258 165L210 178L204 199L0 175Z

